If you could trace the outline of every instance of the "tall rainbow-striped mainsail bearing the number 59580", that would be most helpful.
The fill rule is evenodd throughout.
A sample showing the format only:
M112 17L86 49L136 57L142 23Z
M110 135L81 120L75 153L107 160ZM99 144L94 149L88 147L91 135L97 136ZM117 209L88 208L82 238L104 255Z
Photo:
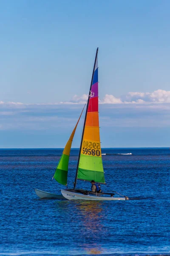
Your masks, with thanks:
M82 134L77 178L79 180L95 180L99 183L105 183L99 134L97 53L98 48Z

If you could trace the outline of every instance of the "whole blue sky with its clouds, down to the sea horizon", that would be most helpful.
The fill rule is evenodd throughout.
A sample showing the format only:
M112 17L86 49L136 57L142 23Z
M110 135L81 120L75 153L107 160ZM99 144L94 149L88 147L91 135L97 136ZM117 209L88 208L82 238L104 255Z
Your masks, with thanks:
M1 1L0 148L64 147L97 47L102 146L169 147L169 10L168 0ZM74 147L81 131L82 121Z

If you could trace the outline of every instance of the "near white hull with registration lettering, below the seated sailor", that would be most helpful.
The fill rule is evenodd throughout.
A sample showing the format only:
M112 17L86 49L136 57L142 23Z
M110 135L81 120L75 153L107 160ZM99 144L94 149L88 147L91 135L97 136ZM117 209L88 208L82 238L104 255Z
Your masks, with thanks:
M61 189L62 195L68 200L93 200L93 201L111 201L111 200L126 200L123 197L104 197L104 196L96 196L96 195L83 195L76 192L69 192L67 190Z

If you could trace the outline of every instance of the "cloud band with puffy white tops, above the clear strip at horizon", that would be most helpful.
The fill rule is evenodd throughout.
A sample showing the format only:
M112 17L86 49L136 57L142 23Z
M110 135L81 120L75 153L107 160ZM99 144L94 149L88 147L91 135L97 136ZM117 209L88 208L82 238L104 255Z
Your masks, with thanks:
M52 130L73 126L88 96L70 102L34 103L0 101L0 130ZM120 98L106 94L100 100L103 127L169 127L170 91L129 92Z

